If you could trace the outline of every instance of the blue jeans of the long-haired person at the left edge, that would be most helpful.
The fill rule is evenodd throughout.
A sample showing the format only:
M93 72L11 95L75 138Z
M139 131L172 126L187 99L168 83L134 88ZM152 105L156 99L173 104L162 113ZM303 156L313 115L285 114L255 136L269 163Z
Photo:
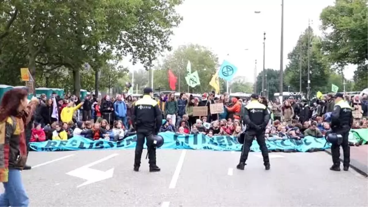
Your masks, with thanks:
M8 182L3 183L5 192L0 195L1 207L27 207L29 199L25 192L21 171L10 169Z

